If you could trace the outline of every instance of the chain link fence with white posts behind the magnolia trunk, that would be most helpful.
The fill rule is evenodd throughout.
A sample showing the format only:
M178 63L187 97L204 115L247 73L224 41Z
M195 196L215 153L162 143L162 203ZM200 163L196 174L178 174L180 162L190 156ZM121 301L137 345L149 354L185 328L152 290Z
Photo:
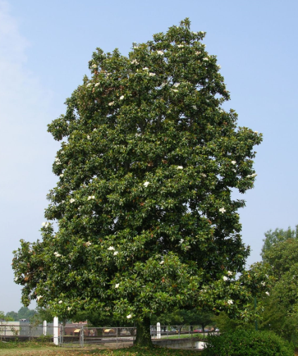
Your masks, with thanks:
M123 348L135 340L135 327L93 327L87 324L62 324L54 327L30 325L28 323L0 324L0 340L55 342L62 347L84 347L87 345L103 345L106 348ZM214 329L201 329L197 326L161 325L151 326L152 340L204 337L208 333L216 333Z

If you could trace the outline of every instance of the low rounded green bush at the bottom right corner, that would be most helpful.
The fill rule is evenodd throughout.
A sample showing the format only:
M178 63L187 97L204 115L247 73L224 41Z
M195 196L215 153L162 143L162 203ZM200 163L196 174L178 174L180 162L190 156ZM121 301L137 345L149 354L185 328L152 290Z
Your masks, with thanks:
M208 336L204 356L293 356L292 343L272 331L237 330Z

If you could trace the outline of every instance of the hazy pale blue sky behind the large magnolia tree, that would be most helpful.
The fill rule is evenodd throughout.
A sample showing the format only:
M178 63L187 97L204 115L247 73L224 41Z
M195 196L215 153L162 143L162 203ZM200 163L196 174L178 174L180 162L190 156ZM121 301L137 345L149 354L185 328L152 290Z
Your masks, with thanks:
M36 241L58 143L46 125L89 74L92 52L147 42L189 17L218 56L239 125L263 133L255 188L240 210L248 263L260 260L263 233L297 217L296 0L0 0L0 310L18 311L12 251ZM31 305L30 307L35 307Z

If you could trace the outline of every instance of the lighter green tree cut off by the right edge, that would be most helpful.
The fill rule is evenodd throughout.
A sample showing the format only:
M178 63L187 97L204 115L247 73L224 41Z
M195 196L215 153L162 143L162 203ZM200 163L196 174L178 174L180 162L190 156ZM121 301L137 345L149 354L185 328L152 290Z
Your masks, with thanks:
M270 230L265 236L261 255L269 279L262 301L261 328L273 330L290 341L293 335L297 337L298 327L297 227Z

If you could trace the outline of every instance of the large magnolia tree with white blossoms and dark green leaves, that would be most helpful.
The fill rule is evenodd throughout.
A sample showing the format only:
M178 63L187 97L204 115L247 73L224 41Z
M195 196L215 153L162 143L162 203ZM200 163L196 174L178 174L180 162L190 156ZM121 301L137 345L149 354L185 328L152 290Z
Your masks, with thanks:
M249 249L232 191L253 187L261 134L221 107L229 93L204 35L185 19L128 56L93 54L91 76L49 125L61 149L48 221L13 260L25 305L113 314L150 345L152 315L232 313L250 299L252 274L234 279Z

